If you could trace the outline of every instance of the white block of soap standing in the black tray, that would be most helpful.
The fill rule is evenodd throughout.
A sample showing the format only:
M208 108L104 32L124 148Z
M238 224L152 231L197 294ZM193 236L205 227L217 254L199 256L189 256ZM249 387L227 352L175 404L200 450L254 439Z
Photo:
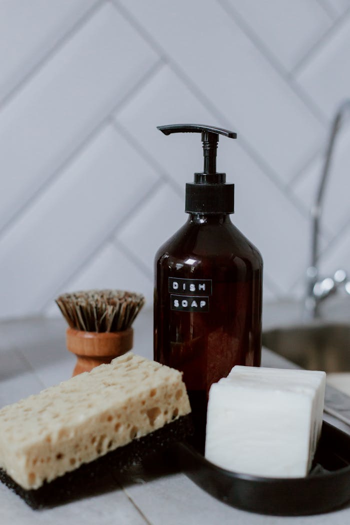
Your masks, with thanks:
M306 476L321 434L325 376L235 366L210 388L206 458L255 476Z

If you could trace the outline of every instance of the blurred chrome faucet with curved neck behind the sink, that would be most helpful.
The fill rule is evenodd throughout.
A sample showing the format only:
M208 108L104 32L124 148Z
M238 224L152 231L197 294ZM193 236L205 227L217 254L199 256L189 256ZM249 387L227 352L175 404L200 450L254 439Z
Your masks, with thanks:
M323 196L328 179L331 160L333 156L334 144L341 128L345 113L350 110L350 99L345 100L335 114L330 138L328 140L322 175L317 191L316 201L311 209L312 217L312 247L310 266L306 270L306 298L304 304L304 317L314 319L319 316L320 303L335 293L339 287L345 289L350 294L350 281L345 270L336 270L333 277L319 278L319 268L317 267L319 258L319 233L322 216Z

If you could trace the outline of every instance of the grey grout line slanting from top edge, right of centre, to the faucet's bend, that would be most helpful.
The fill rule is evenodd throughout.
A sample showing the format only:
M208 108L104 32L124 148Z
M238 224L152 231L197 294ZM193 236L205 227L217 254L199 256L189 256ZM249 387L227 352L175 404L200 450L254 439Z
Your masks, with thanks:
M277 72L278 75L284 80L286 85L292 89L295 95L303 102L305 108L309 110L313 116L322 124L327 124L327 118L322 113L321 109L313 102L311 97L303 90L303 88L294 80L293 77L288 75L288 71L283 69L278 59L276 59L255 33L255 31L249 27L245 20L241 17L237 10L231 5L227 4L227 0L217 0L220 7L237 23L242 32L251 40L254 46L258 49L260 54L269 62L270 66Z

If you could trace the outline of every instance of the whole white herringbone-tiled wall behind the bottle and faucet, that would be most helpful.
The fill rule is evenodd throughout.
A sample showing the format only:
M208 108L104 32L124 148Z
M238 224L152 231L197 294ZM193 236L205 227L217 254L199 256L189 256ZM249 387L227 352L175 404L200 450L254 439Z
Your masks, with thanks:
M29 5L30 4L30 5ZM350 97L350 0L4 0L0 4L0 318L57 313L62 291L153 298L153 257L185 222L196 136L220 141L235 224L264 298L300 297L338 104ZM350 119L349 119L350 120ZM350 272L350 125L336 146L321 268Z

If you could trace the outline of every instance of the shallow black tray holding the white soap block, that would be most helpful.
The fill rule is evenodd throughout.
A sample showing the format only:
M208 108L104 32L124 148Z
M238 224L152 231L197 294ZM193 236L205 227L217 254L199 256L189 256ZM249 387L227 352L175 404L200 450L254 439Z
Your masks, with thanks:
M262 478L217 467L187 443L174 448L185 474L228 505L261 514L329 512L350 500L350 435L323 422L314 466L305 478Z

